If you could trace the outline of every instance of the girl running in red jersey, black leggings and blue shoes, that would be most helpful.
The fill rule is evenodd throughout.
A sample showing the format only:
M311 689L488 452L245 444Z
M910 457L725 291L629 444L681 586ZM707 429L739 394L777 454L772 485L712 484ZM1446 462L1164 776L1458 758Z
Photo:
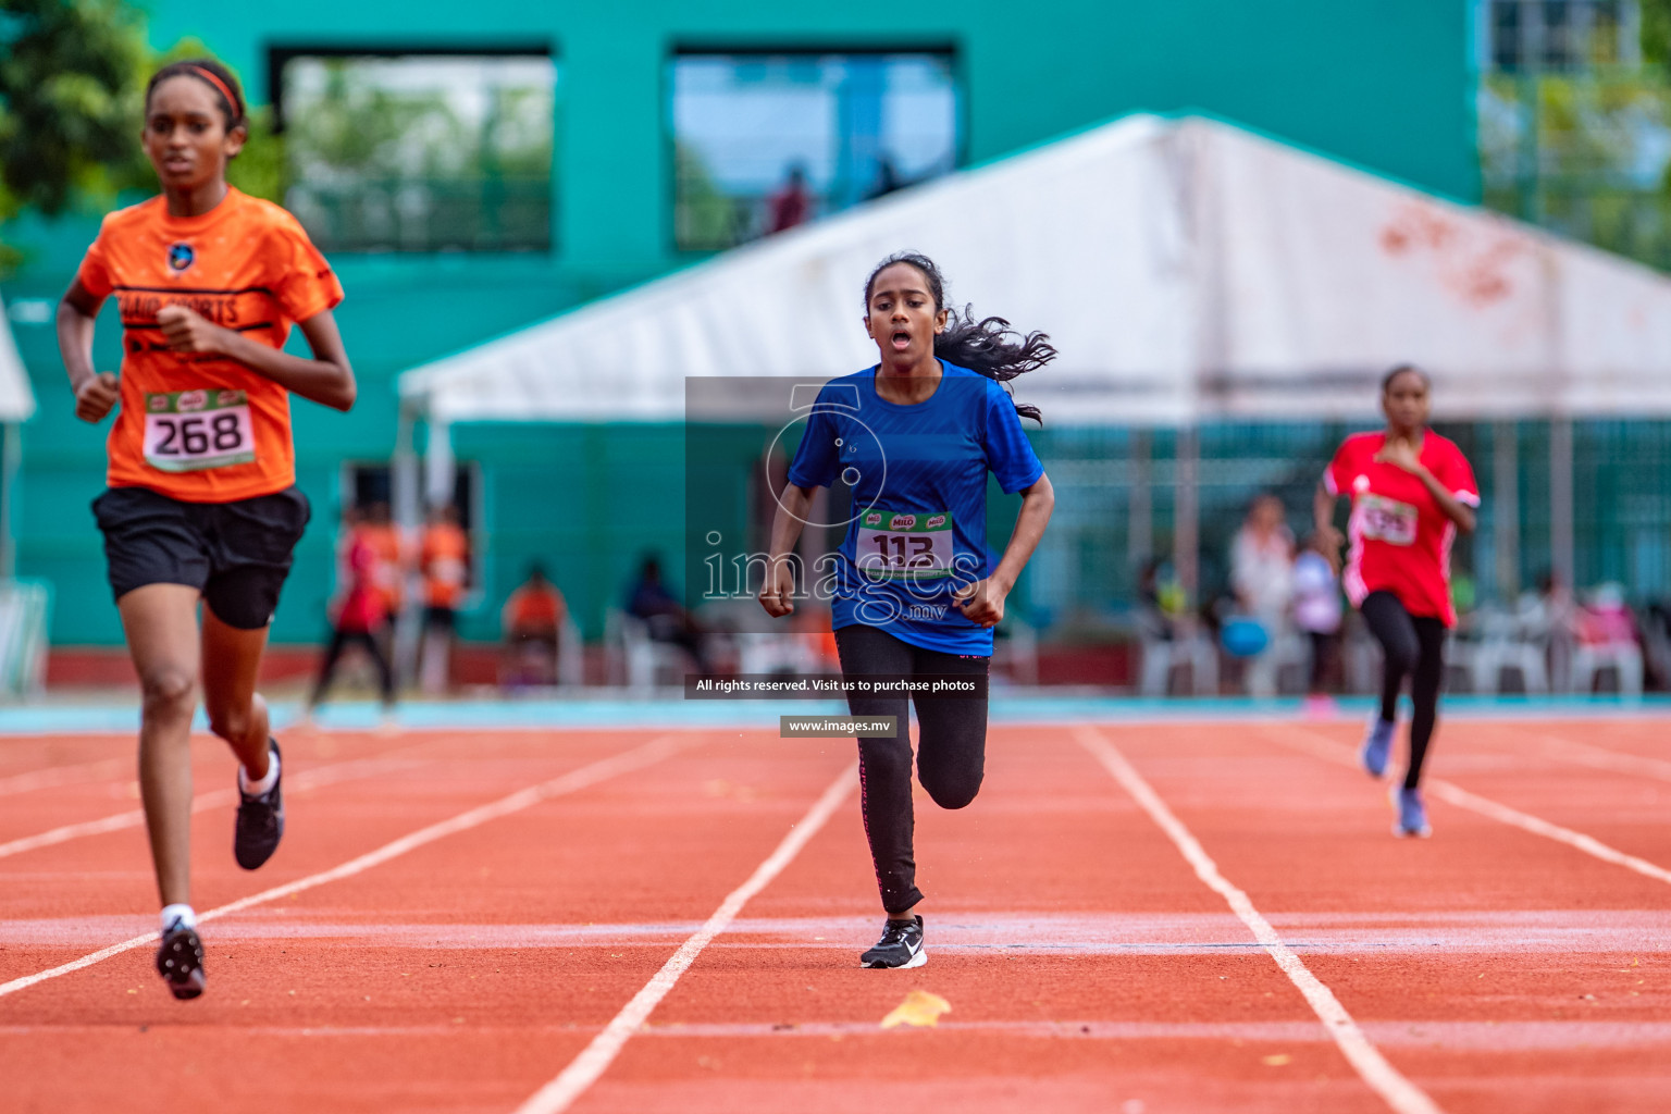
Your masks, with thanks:
M1335 499L1352 499L1352 551L1342 581L1354 606L1385 651L1380 711L1364 740L1364 768L1387 772L1399 690L1410 678L1410 762L1394 790L1394 835L1430 835L1422 805L1422 762L1439 717L1445 673L1445 630L1455 626L1450 603L1450 543L1457 529L1474 533L1479 484L1454 441L1427 428L1429 379L1400 364L1380 384L1384 433L1357 433L1342 443L1317 486L1313 511L1323 551L1335 561L1340 531Z

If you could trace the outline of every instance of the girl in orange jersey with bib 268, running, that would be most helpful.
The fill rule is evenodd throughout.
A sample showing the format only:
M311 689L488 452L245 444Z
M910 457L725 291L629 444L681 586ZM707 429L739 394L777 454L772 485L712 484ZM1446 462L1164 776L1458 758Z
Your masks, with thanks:
M77 418L117 409L94 514L144 698L139 782L164 905L157 970L177 999L204 989L189 879L197 676L209 728L239 760L234 853L254 870L284 833L279 745L256 673L309 518L291 394L354 404L331 317L341 284L291 214L226 182L246 137L244 99L222 65L160 68L145 89L142 144L162 195L105 217L58 306ZM120 379L92 364L94 319L112 294ZM282 351L292 322L312 359Z

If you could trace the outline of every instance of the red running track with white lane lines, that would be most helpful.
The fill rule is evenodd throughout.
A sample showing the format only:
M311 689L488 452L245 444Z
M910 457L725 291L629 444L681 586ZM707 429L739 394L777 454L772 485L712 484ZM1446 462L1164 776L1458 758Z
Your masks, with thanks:
M145 935L155 900L142 828L99 827L135 808L132 742L0 740L0 1106L510 1112L561 1077L540 1109L1664 1111L1664 725L1452 720L1432 775L1472 803L1430 797L1420 842L1390 837L1354 737L994 727L976 803L919 802L931 959L907 972L856 965L879 927L857 797L807 823L851 777L839 742L294 735L286 843L246 873L206 738L197 909L301 889L204 924L189 1004L150 944L7 989ZM951 1012L882 1029L909 990ZM612 1029L643 994L665 997Z

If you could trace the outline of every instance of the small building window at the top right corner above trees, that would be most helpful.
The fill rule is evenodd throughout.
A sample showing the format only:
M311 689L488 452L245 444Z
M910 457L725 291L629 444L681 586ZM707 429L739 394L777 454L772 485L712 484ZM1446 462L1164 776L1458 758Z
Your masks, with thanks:
M1582 70L1641 60L1639 0L1486 0L1496 70Z

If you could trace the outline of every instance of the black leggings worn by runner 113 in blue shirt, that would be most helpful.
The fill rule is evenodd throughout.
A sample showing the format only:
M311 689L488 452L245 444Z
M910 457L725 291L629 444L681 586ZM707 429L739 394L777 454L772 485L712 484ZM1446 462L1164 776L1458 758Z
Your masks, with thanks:
M841 671L887 676L986 676L989 658L922 650L874 626L836 631ZM851 693L852 715L899 717L892 738L859 740L859 797L882 909L902 914L922 900L911 835L911 700ZM979 696L916 696L917 777L941 808L962 808L981 792L986 768L986 691Z

